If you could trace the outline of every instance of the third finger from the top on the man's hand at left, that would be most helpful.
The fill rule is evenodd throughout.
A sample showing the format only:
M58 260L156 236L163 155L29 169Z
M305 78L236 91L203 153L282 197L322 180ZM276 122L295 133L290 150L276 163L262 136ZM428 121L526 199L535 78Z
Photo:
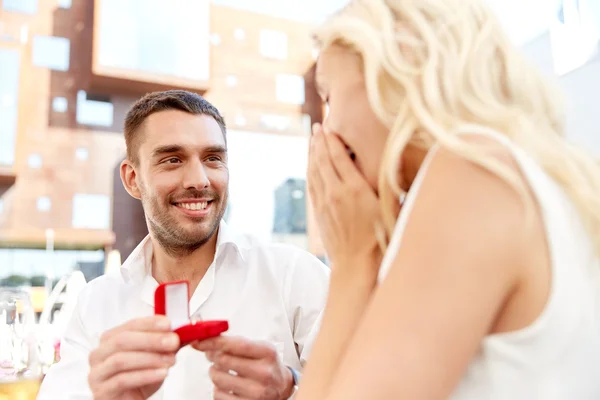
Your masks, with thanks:
M90 371L90 385L104 382L113 376L129 371L170 368L175 364L175 354L129 351L115 353Z

